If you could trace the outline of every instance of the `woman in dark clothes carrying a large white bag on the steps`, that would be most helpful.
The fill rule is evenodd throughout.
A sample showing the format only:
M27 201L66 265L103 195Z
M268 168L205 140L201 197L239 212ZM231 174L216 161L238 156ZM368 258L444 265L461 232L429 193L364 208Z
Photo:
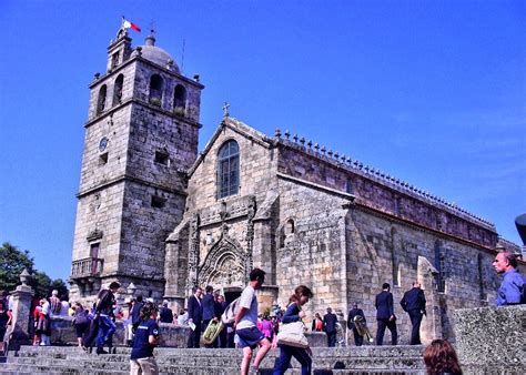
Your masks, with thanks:
M282 324L299 322L305 316L305 312L302 311L302 306L312 298L312 291L305 285L300 285L294 290L294 294L291 296L290 304L286 307L285 314L282 318ZM276 341L274 341L274 345ZM283 375L291 364L292 357L296 358L302 365L302 375L308 375L312 372L312 358L311 349L303 347L295 347L284 344L279 344L280 356L276 358L274 365L273 375Z

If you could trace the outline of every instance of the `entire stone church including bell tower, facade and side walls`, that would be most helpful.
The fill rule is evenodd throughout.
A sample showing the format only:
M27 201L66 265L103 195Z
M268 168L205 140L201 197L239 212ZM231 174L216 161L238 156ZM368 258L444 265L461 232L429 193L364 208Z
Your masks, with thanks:
M121 29L97 73L84 124L72 254L72 301L119 281L132 294L183 306L194 285L239 295L267 272L260 307L306 284L310 316L352 303L374 322L374 296L398 301L415 280L428 301L424 339L453 338L451 311L493 303L495 225L360 161L276 130L224 118L198 150L200 77L184 77L155 45ZM370 324L374 331L374 324Z

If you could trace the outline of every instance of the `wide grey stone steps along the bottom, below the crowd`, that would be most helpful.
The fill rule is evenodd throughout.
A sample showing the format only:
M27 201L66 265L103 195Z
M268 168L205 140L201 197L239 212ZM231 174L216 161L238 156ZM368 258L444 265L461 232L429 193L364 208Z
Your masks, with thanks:
M314 374L425 374L423 346L362 346L313 348ZM241 349L156 348L161 374L226 375L239 374ZM272 374L279 349L271 351L262 364L262 374ZM85 354L72 346L22 346L10 352L1 374L129 374L130 348L117 354ZM286 374L301 374L293 359Z

